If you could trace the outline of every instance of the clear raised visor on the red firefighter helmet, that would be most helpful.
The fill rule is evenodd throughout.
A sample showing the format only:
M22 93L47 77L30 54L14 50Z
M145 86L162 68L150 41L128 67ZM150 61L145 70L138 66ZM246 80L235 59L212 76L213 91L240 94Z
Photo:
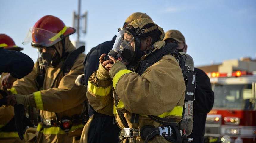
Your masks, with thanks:
M31 43L35 48L50 47L61 40L61 35L61 33L53 33L48 30L32 27L29 28L22 44Z

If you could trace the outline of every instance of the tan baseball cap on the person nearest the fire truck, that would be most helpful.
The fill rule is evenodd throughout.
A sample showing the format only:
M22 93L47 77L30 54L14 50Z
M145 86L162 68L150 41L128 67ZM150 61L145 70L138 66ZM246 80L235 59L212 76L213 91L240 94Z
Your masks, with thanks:
M168 38L172 38L179 43L186 43L185 37L182 35L182 33L178 30L169 30L165 33L163 41L165 41Z

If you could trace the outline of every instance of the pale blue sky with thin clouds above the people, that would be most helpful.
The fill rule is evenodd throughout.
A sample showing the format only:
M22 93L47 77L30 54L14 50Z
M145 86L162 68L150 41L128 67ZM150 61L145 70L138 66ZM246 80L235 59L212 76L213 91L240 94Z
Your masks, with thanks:
M37 50L22 42L30 27L45 15L60 18L73 27L79 0L0 0L0 33L7 34L34 62ZM179 30L188 45L194 65L221 64L224 60L256 59L255 0L81 0L81 16L87 12L85 54L118 34L129 15L143 12L166 32ZM81 23L82 25L82 23ZM81 27L82 28L82 27ZM70 35L77 41L77 34Z

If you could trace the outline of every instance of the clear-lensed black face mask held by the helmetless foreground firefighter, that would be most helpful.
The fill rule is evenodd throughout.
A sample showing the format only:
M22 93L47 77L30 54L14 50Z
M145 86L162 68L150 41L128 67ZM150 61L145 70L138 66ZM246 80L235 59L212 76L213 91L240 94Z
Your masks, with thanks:
M119 28L118 36L115 40L112 50L104 57L115 57L125 65L133 62L140 49L140 40L130 28Z

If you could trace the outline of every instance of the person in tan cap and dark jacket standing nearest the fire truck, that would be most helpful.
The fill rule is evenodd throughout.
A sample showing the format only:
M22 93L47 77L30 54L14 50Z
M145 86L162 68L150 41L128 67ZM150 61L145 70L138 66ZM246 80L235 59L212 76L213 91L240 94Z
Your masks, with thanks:
M179 47L177 50L179 52L187 52L187 45L185 37L178 30L169 30L165 33L163 39L165 43L170 43L177 41ZM205 121L207 113L213 107L214 102L214 92L211 88L211 83L209 77L204 71L199 68L194 68L196 73L196 92L194 101L194 112L193 112L193 129L188 138L193 138L191 143L203 143L205 134Z

